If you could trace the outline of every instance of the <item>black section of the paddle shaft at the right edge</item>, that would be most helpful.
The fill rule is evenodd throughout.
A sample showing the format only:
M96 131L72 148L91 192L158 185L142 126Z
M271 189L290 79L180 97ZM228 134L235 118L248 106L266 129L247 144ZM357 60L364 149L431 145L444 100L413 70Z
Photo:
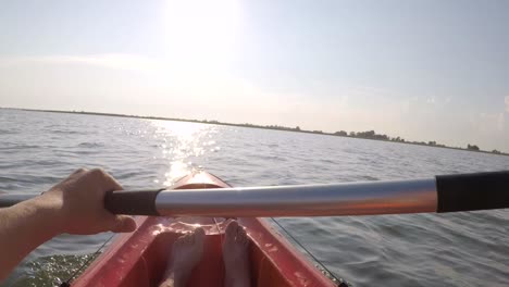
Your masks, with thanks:
M437 212L509 208L509 171L438 175Z

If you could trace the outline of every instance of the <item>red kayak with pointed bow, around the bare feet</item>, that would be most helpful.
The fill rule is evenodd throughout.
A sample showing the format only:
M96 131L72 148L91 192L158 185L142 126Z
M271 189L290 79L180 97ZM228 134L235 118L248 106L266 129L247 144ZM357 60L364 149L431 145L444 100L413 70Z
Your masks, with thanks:
M231 186L212 174L197 171L179 179L172 189L227 187ZM250 240L252 286L336 286L265 220L236 220ZM194 269L188 286L224 286L221 247L226 219L136 216L136 221L138 228L115 235L72 286L158 286L173 242L198 226L206 230L203 260Z

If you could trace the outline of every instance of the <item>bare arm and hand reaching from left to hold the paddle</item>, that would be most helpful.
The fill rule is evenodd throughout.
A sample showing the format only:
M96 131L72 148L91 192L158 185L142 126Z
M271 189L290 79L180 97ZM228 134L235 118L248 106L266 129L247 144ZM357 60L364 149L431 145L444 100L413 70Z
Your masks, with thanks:
M101 170L78 170L41 196L0 209L0 282L26 254L57 235L136 229L132 217L103 208L104 194L119 189Z

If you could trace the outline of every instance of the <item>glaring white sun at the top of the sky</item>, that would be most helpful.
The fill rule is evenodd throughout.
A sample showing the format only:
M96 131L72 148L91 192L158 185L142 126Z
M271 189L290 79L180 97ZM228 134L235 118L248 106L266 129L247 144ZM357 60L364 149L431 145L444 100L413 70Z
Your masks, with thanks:
M239 37L237 0L167 0L165 38L172 65L207 68L227 61Z

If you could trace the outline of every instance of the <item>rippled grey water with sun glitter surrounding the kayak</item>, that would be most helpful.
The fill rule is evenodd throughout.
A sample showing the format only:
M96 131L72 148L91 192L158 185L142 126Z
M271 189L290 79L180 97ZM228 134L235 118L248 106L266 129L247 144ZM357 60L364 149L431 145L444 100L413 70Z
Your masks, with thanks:
M77 167L125 188L203 166L234 186L325 184L509 170L509 157L333 136L127 117L0 110L0 190L40 192ZM355 286L508 286L509 210L278 219ZM110 234L45 244L3 286L53 286Z

